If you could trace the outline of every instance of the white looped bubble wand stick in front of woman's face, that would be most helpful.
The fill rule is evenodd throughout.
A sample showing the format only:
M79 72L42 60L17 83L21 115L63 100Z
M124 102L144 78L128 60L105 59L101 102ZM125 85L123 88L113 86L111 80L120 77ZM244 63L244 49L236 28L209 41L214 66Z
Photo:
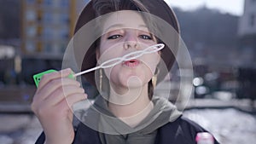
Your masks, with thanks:
M96 67L90 68L88 70L75 73L75 74L73 74L73 77L78 77L78 76L83 75L85 73L96 71L97 69L100 69L100 68L113 67L113 66L121 63L124 60L137 59L138 57L140 57L140 56L142 56L144 54L150 54L150 53L157 52L160 49L163 49L164 47L165 47L165 44L158 43L158 44L155 44L155 45L152 45L152 46L148 47L147 49L138 50L138 51L135 51L135 52L131 52L131 53L127 54L127 55L124 55L122 57L118 57L118 58L113 58L113 59L107 60L107 61L103 62L100 66L96 66Z

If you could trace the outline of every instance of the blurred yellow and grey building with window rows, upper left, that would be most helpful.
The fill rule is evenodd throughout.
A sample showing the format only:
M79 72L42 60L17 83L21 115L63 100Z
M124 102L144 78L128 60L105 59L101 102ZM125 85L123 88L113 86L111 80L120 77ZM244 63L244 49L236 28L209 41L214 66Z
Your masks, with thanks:
M22 0L22 55L61 57L58 55L64 53L77 16L87 1Z

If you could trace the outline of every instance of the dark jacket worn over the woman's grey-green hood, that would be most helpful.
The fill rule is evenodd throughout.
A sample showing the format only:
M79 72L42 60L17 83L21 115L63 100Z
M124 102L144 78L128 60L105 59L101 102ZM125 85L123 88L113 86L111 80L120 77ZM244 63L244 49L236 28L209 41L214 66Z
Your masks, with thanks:
M198 132L205 132L200 125L188 118L177 118L174 122L160 127L157 132L155 144L196 144L195 136ZM36 144L44 144L44 133L42 133ZM99 132L92 130L84 124L79 124L75 130L73 144L102 144ZM214 144L218 141L214 140Z

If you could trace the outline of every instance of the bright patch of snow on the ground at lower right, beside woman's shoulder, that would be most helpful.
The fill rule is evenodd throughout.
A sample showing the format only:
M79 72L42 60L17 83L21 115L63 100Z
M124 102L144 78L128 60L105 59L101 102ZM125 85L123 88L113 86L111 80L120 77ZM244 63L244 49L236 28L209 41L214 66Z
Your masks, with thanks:
M209 130L222 144L252 144L256 141L256 117L234 108L193 109L184 116Z

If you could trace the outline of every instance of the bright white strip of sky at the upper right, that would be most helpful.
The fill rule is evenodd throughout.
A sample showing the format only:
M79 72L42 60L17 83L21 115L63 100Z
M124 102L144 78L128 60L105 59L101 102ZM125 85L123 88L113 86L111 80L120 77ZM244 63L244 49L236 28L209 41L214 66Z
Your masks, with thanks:
M222 13L243 14L245 0L166 0L172 6L183 10L193 10L206 6L208 9L218 9Z

